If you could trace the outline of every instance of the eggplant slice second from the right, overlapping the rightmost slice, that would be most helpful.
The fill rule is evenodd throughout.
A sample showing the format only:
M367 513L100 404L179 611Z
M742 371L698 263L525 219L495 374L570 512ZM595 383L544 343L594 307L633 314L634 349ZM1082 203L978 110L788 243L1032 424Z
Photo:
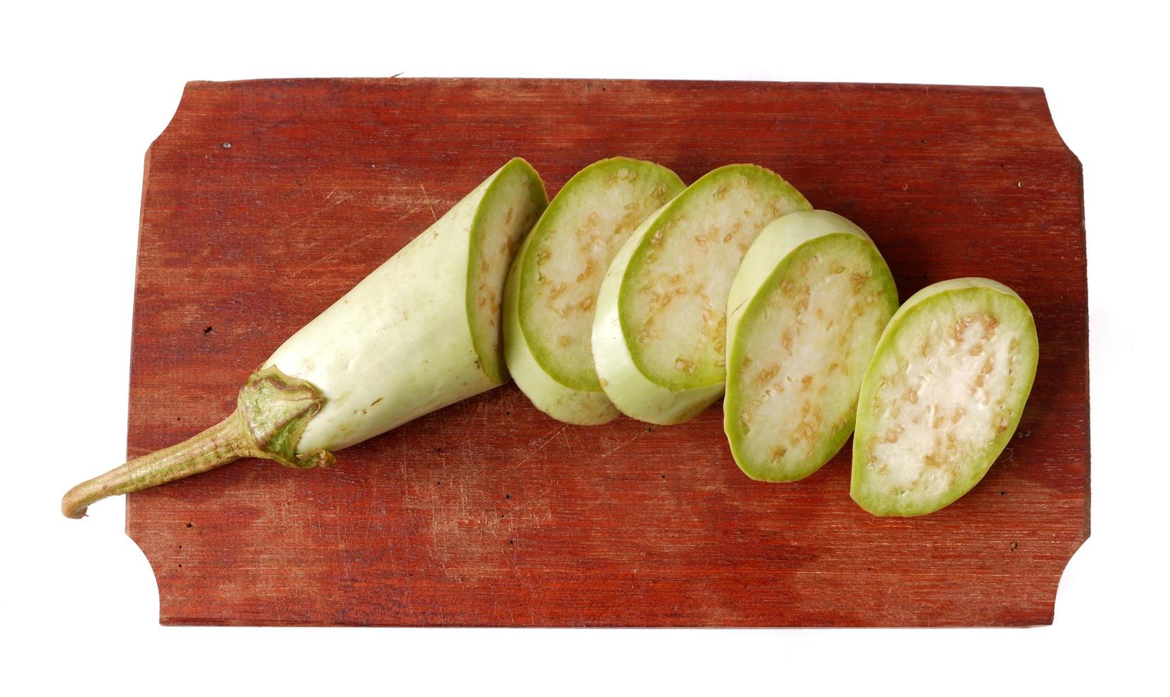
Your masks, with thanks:
M745 474L801 479L845 445L896 309L885 259L841 216L791 213L759 233L728 299L723 429Z

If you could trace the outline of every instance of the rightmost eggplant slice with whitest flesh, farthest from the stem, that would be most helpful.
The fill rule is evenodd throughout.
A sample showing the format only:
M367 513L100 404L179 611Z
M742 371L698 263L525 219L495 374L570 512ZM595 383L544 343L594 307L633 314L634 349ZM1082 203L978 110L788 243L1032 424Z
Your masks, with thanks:
M983 479L1019 424L1035 378L1031 310L990 279L918 291L866 370L849 494L874 515L922 515Z

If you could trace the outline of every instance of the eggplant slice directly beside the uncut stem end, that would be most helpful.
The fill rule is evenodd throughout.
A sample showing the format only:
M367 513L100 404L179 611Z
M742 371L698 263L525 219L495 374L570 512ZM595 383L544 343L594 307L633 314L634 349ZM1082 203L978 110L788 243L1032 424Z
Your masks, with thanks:
M618 416L593 367L601 278L641 221L683 189L654 163L603 159L573 175L532 227L504 288L504 358L541 411L583 425Z

